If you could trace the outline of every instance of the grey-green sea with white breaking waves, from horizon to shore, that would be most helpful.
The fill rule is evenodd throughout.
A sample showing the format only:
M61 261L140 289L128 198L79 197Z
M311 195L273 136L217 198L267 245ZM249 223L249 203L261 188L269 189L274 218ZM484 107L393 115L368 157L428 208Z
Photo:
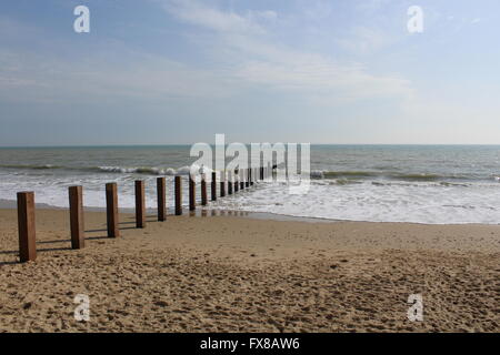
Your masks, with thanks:
M86 207L104 207L104 184L117 182L119 205L133 209L134 180L156 206L156 178L187 182L190 145L2 148L0 200L34 191L36 202L68 207L68 186L82 185ZM261 182L207 209L334 221L427 224L500 223L499 145L311 145L310 186L290 194L286 182ZM183 203L188 204L187 183ZM200 193L197 191L199 197Z

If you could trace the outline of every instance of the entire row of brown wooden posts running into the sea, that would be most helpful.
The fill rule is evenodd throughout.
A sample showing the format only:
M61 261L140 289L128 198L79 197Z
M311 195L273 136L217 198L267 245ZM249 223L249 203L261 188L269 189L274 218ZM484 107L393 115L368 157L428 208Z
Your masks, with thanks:
M239 190L244 190L253 185L258 180L267 180L272 175L272 169L260 166L259 169L236 170L234 175L228 172L226 182L226 172L220 172L220 196L231 195ZM259 179L257 179L259 174ZM226 189L227 187L227 189ZM211 201L217 200L217 173L211 173ZM158 201L158 221L167 220L167 189L166 178L157 179L157 201ZM19 257L24 263L37 258L36 246L36 226L34 226L34 193L18 192L18 230L19 230ZM207 181L204 175L201 178L201 205L207 205ZM194 211L196 203L196 181L189 175L189 211ZM69 211L71 247L84 247L84 224L83 224L83 187L69 187ZM120 230L118 219L118 186L117 183L106 184L106 211L108 237L119 237ZM174 176L174 214L182 214L182 179ZM144 181L136 181L136 226L146 227L146 194Z

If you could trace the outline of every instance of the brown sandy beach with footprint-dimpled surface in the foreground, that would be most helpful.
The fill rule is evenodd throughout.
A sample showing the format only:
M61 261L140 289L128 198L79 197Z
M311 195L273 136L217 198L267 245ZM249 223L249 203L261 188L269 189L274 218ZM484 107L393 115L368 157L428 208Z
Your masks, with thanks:
M106 237L86 213L37 211L38 258L17 263L17 211L0 210L2 332L500 332L500 226L149 217ZM73 297L90 297L77 322ZM407 318L410 294L423 322Z

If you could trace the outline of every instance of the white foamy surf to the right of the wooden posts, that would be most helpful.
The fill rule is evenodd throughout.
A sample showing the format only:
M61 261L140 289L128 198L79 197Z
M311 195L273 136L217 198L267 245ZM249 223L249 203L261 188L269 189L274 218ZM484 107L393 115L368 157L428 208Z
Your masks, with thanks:
M307 194L293 195L283 184L266 183L211 206L343 221L498 224L500 189L488 183L467 187L432 183L312 183Z

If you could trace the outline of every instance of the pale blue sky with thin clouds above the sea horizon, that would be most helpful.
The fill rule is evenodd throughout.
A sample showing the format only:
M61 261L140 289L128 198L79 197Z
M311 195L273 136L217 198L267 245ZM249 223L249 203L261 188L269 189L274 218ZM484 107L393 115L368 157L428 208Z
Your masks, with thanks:
M500 144L499 19L498 0L3 0L0 146Z

